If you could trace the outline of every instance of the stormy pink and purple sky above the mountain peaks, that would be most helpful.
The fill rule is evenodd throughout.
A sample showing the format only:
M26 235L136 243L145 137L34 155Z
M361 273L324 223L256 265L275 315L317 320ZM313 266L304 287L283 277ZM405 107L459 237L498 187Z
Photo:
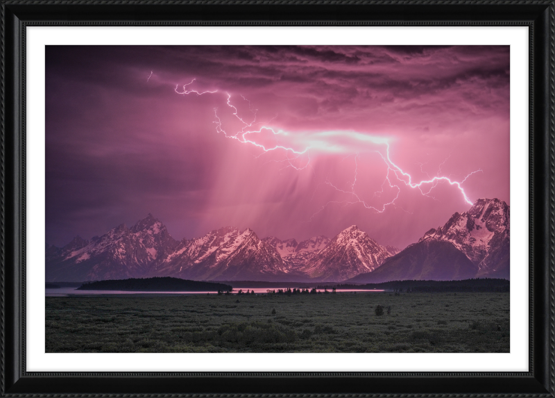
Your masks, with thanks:
M152 213L403 248L470 207L434 177L510 204L509 46L46 47L50 244Z

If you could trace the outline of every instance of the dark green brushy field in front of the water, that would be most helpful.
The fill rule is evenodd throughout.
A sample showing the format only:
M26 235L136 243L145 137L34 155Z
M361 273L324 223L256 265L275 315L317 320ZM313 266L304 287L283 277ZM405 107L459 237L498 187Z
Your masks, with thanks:
M46 352L509 352L509 293L46 297Z

